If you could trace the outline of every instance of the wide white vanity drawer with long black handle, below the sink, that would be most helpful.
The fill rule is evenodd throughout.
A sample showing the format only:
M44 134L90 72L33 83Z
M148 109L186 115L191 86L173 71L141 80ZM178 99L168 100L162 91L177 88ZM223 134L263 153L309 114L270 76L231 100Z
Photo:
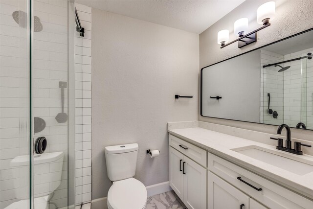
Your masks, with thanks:
M313 202L309 199L212 153L208 154L208 169L268 208L312 209L313 207Z

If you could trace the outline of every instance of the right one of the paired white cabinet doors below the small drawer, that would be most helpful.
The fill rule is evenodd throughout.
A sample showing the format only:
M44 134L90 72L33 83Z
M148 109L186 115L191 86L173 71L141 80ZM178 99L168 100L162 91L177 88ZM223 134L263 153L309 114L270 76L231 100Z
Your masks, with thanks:
M198 163L184 156L184 204L188 209L206 209L206 172Z

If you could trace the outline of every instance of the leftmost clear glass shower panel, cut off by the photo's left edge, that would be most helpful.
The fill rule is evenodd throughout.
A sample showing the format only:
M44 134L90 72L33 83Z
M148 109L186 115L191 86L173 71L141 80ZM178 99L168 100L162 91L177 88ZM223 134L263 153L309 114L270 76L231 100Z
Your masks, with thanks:
M29 204L27 0L0 0L0 209Z

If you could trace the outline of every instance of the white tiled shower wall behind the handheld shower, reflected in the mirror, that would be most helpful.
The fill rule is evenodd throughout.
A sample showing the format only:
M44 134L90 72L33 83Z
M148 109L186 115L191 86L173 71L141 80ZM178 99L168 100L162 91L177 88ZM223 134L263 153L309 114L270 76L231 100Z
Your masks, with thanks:
M284 123L284 74L278 72L278 69L274 66L262 67L263 65L283 60L283 55L261 49L261 123L272 125ZM268 114L268 93L270 93L270 109L277 111L279 114L277 119Z

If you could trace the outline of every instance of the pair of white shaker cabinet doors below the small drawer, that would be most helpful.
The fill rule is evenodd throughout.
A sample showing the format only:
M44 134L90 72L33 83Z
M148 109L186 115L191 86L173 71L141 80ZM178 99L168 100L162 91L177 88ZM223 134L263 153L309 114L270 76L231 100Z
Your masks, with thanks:
M206 174L206 168L170 146L170 186L188 209L206 209Z

